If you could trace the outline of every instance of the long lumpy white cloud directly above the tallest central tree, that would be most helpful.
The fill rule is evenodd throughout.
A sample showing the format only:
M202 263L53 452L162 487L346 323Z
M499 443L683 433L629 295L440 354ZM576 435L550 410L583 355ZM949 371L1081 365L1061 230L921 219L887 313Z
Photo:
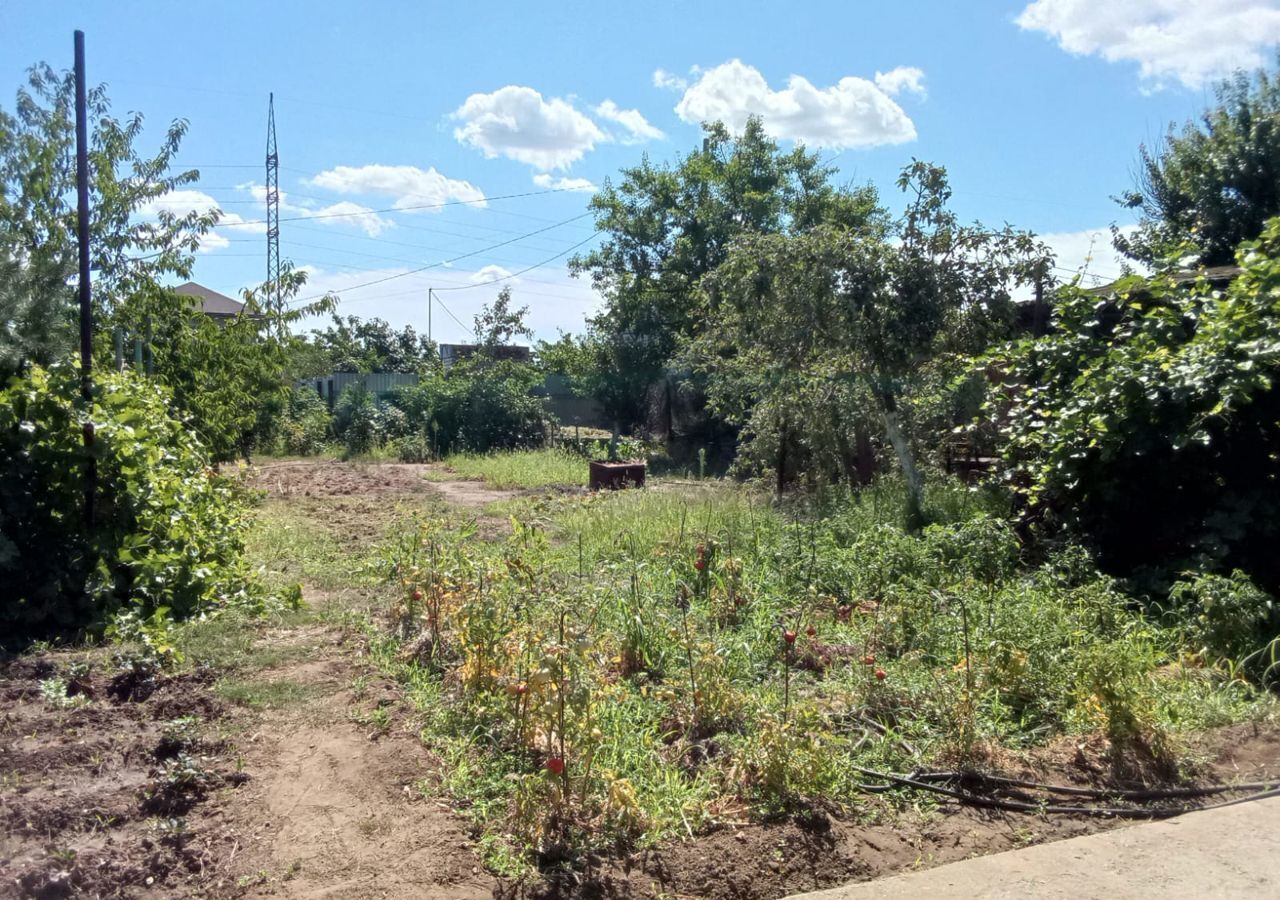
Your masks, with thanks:
M774 137L836 149L876 147L915 140L915 125L883 88L865 78L841 78L814 87L791 76L780 91L764 76L733 59L707 69L676 104L685 122L719 120L733 131L759 115Z

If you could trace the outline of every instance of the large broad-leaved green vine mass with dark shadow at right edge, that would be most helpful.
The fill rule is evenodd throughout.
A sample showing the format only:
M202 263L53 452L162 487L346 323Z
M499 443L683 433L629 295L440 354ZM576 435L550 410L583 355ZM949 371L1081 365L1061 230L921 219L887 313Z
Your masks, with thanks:
M1010 480L1029 516L1111 571L1242 568L1280 586L1280 219L1225 289L1130 278L1057 301L1052 333L1001 355Z

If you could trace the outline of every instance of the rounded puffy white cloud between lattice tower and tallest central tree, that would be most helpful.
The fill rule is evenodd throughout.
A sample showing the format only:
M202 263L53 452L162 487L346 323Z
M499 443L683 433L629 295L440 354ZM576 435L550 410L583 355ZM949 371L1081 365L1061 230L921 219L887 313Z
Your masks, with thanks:
M531 87L507 84L493 93L472 93L452 114L461 124L453 137L485 157L526 163L541 172L566 169L608 136L561 97L544 100Z

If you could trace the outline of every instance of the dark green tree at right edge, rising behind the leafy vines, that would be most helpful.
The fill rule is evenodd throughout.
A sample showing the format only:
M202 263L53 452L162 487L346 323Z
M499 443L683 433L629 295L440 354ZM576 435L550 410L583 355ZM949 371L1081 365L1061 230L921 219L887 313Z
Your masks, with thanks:
M1116 234L1129 257L1229 264L1280 215L1280 79L1238 73L1216 96L1199 123L1170 127L1157 147L1140 149L1138 184L1121 202L1142 221L1134 236Z

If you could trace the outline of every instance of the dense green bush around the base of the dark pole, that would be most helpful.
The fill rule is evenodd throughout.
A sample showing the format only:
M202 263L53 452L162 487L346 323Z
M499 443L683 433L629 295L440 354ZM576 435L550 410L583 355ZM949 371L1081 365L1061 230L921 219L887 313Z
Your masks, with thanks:
M88 421L97 492L86 529ZM4 643L95 629L122 607L184 617L248 600L244 527L232 484L155 382L99 375L91 411L69 365L0 390Z

